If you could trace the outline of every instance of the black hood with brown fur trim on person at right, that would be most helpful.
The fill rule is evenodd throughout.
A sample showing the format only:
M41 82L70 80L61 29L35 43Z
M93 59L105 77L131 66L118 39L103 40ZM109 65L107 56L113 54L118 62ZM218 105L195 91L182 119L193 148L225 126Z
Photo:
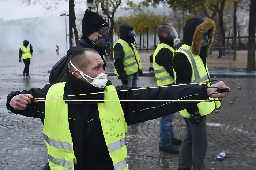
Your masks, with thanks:
M184 44L191 46L191 51L194 55L200 55L203 34L207 33L212 43L215 29L216 25L212 19L206 19L205 21L199 18L189 19L184 27ZM207 53L210 51L211 43L206 47Z

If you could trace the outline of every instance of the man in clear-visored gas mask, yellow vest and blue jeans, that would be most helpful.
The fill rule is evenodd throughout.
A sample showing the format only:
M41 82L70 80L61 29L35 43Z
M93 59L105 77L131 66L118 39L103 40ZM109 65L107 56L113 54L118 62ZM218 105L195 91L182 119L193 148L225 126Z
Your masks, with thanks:
M168 24L159 25L157 36L160 43L153 54L153 67L158 86L174 84L173 76L173 46L180 43L180 39L174 27ZM159 149L171 154L179 154L179 150L173 145L181 145L182 140L174 137L173 131L174 114L160 118L160 141Z

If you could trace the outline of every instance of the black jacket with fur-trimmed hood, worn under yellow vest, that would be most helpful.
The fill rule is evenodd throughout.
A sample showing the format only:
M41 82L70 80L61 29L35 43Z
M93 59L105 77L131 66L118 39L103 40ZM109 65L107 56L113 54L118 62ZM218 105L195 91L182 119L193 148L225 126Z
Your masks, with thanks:
M201 47L202 43L200 43L200 33L203 31L210 32L212 30L207 30L212 28L212 23L205 23L207 27L198 26L199 24L203 23L203 20L200 19L190 19L185 25L184 28L184 37L183 37L183 44L191 46L192 52L196 55L199 55L204 63L204 67L206 67L206 57L207 52L210 50L211 44L205 47ZM214 24L215 25L215 24ZM197 28L198 26L198 28ZM205 25L204 25L205 26ZM195 33L196 29L205 29L201 32ZM215 29L215 28L214 28ZM213 38L212 32L209 33L211 39ZM196 51L196 52L195 52ZM191 82L192 77L192 67L187 58L187 56L181 52L176 53L175 57L173 58L173 69L176 72L176 83L189 83ZM210 76L209 76L210 79ZM186 108L189 114L193 114L199 111L197 107L197 103L190 104L188 108Z

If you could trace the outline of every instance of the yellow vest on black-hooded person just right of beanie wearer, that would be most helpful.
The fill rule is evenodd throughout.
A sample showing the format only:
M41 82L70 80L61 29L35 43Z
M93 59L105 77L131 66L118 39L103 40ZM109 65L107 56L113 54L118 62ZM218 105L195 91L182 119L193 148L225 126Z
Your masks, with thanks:
M122 39L119 39L116 43L120 43L122 45L123 49L124 49L123 64L124 64L124 71L126 72L126 74L131 75L131 74L134 74L134 73L138 72L138 67L139 67L140 70L142 70L142 63L140 61L140 56L139 56L139 53L136 50L135 46L131 43L132 47L133 47L133 49L132 49L129 46L129 44L126 41L122 40ZM114 49L114 46L113 46L113 49ZM115 57L114 56L114 50L113 50L113 57ZM136 57L137 61L135 60L135 57ZM115 69L115 74L117 76L119 76L116 69Z

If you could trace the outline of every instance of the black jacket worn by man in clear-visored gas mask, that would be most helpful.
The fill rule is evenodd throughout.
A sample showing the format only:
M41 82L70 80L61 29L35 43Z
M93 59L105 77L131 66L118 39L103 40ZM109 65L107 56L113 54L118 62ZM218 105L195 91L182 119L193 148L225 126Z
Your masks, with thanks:
M173 47L174 43L166 39L160 38L160 44L161 43L167 44L168 46L174 48ZM155 62L159 66L163 66L166 69L166 71L170 74L170 76L174 78L172 59L173 59L173 53L168 48L161 48L161 50L159 50L159 52L155 56Z

